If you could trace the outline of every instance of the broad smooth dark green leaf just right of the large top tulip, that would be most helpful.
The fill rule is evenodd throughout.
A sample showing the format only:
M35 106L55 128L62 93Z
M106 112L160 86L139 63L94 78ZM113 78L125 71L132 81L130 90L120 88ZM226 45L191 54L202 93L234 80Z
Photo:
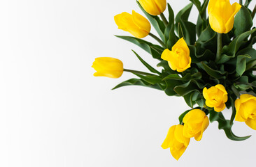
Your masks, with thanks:
M248 8L242 6L234 19L234 34L236 36L249 31L253 26L253 19Z

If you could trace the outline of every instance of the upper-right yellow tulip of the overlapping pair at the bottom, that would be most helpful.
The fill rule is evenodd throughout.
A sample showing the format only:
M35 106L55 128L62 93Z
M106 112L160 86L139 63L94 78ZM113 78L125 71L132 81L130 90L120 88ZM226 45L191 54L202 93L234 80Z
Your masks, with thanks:
M209 119L204 111L193 109L188 112L183 118L184 130L183 134L187 138L192 138L196 141L201 141L203 132L209 125Z

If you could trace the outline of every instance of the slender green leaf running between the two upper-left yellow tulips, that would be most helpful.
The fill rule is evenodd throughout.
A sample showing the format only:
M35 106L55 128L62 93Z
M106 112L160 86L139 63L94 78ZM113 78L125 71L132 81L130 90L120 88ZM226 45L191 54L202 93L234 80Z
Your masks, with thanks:
M143 11L143 13L145 14L146 17L148 17L150 23L152 24L152 26L154 26L155 30L157 31L158 35L160 36L160 38L162 39L162 41L166 41L164 38L164 22L162 22L158 16L153 16L148 14L141 6L141 4L136 1L138 3L138 6L141 8L141 10Z

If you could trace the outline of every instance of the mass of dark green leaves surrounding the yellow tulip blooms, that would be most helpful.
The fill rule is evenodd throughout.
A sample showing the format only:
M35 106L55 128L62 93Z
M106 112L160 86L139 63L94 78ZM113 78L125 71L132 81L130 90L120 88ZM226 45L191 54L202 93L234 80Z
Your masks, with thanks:
M180 10L176 17L168 4L168 25L165 25L158 16L149 15L141 8L165 46L154 45L130 36L117 37L138 45L152 55L153 58L159 60L157 67L162 67L162 72L143 61L134 51L141 63L154 74L134 73L139 79L129 79L115 88L130 85L146 86L163 90L169 96L182 96L192 109L202 109L206 114L210 114L211 122L218 121L219 129L224 129L229 139L234 141L245 140L250 136L235 136L232 133L232 125L236 115L234 101L237 97L243 93L256 96L256 76L253 74L253 71L256 70L256 50L253 49L253 45L256 42L256 29L253 28L252 11L248 8L251 0L247 0L239 13L236 14L232 31L222 34L222 56L218 61L216 61L218 35L211 29L206 17L208 0L205 0L202 4L199 0L190 1L192 3ZM199 11L197 24L188 21L193 5ZM139 3L138 6L140 6ZM164 49L171 49L178 39L182 37L190 49L192 63L189 69L180 73L171 70L168 63L161 59L161 54ZM205 104L202 95L203 88L210 88L216 84L222 84L227 90L227 109L232 108L232 116L229 120L222 113L213 111L212 108L208 108ZM180 123L185 113L180 116Z

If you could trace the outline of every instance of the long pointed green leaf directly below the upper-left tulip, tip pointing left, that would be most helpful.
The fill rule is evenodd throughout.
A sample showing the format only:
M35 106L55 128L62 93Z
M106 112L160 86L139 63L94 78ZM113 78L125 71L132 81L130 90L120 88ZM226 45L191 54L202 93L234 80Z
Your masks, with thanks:
M153 58L158 58L158 59L161 58L162 51L164 51L162 47L159 47L158 45L153 45L152 43L147 42L145 40L141 40L141 39L130 37L130 36L119 36L119 35L115 35L115 36L123 40L132 42L135 45L138 45L138 47L141 47L142 49L147 51L149 54L151 54Z

